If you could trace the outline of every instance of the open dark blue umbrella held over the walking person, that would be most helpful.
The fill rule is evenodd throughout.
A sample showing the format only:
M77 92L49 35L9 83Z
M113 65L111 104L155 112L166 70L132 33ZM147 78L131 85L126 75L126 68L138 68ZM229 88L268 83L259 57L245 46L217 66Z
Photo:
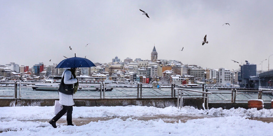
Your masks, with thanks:
M92 67L96 66L93 62L89 59L82 58L82 57L70 57L61 61L56 68L78 68L78 67Z

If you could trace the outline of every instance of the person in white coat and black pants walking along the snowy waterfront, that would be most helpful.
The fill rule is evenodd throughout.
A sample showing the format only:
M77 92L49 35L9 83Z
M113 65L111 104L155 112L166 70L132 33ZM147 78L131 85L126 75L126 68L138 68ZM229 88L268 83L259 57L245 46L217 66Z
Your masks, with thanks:
M72 124L72 111L73 111L73 94L78 89L78 79L75 74L76 68L65 68L65 71L62 74L62 80L58 89L59 93L59 103L63 105L63 108L59 113L53 117L49 123L57 128L56 122L66 113L67 125Z

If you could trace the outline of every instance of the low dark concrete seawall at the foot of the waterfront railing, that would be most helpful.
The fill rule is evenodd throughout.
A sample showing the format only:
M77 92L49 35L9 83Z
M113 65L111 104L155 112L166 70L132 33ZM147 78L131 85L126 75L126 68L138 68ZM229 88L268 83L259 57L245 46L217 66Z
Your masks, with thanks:
M53 106L57 99L0 99L0 107L11 106ZM177 98L160 98L160 99L74 99L75 106L153 106L165 108L169 106L177 107ZM203 109L203 99L190 98L183 99L183 106L193 106ZM245 108L248 109L247 103L209 103L209 108ZM271 109L271 103L265 103L264 108Z

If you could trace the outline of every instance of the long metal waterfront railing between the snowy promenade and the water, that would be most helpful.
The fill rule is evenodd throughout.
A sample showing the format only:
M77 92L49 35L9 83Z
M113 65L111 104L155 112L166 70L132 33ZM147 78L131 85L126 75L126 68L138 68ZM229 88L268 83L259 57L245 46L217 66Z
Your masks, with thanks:
M50 94L52 96L35 96L32 94L26 94L23 90L23 95L21 95L22 88L31 88L35 85L32 82L0 82L1 87L9 87L9 91L14 91L13 93L0 93L0 99L57 99L57 93ZM90 86L97 88L97 90L91 90ZM88 88L89 87L89 88ZM112 91L107 91L107 89ZM30 90L30 89L29 89ZM46 91L43 91L46 92ZM39 91L29 91L29 93L40 94L43 92ZM79 92L79 93L78 93ZM226 90L217 90L208 88L203 85L199 88L190 87L178 87L175 84L161 84L159 87L154 87L152 84L84 84L78 89L78 92L74 95L76 99L146 99L146 98L178 98L178 94L181 93L183 98L204 98L206 97L206 103L247 103L250 99L262 99L265 103L271 102L273 99L272 90L237 90L236 88L230 88ZM208 92L208 93L205 93ZM210 94L211 93L211 94ZM19 94L19 95L18 95ZM209 94L210 99L208 100ZM26 97L27 96L27 97Z

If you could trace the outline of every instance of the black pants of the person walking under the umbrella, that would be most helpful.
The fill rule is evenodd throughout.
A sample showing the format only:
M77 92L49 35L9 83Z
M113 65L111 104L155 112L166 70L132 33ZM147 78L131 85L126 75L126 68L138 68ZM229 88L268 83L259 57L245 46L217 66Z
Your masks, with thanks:
M52 119L56 122L63 115L65 115L65 113L66 113L67 124L72 124L72 111L73 111L73 107L72 106L65 106L65 105L63 105L63 109L61 109L60 112L55 117L53 117Z

